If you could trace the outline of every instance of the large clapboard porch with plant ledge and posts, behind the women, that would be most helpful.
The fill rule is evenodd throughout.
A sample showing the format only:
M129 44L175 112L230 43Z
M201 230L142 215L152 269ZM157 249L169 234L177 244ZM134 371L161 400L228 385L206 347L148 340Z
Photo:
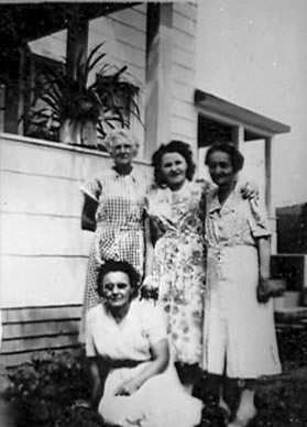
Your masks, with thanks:
M34 12L37 25L29 23ZM3 4L0 23L6 35L0 65L1 363L17 365L33 351L77 342L92 238L80 230L79 185L111 162L101 151L24 136L20 118L26 108L29 46L47 58L64 55L73 75L79 53L107 40L107 54L116 65L128 65L139 85L145 127L131 123L141 143L135 167L150 177L149 160L161 142L177 138L196 149L197 6Z

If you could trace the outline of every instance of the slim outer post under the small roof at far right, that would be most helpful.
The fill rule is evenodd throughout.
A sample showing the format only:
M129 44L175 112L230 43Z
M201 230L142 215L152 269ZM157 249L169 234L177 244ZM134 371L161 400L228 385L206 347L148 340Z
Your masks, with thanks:
M268 215L270 227L272 231L272 253L277 251L276 217L272 202L272 142L273 138L267 136L264 140L265 150L265 205Z

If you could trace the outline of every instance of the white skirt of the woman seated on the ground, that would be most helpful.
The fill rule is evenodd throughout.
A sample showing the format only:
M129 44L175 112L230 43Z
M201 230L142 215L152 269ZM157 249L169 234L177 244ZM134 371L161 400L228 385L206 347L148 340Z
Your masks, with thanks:
M173 363L131 396L114 395L120 383L143 369L144 363L141 363L136 368L110 372L98 408L105 421L121 427L194 427L199 424L202 403L184 391Z

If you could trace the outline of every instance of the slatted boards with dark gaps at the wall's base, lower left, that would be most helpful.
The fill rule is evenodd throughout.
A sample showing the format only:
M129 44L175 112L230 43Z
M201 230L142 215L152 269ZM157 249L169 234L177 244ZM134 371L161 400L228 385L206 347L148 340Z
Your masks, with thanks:
M35 352L78 346L80 305L3 308L1 363L28 362Z

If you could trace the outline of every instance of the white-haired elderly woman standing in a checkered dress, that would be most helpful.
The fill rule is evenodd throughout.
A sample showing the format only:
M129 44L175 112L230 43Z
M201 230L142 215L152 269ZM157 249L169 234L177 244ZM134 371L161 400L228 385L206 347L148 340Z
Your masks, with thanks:
M85 195L81 227L95 231L86 275L83 319L91 307L100 303L97 277L105 261L128 261L141 277L144 270L144 199L147 179L132 165L139 145L122 129L111 132L106 143L113 166L101 171L81 187Z

